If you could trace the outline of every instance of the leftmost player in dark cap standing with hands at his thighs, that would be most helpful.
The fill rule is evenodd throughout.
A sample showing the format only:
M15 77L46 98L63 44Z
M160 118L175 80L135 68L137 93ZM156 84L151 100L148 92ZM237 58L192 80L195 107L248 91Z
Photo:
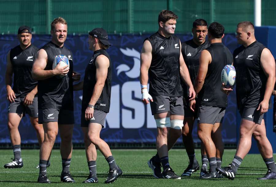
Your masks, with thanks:
M36 130L39 145L44 140L44 131L38 124L37 109L37 81L32 78L32 66L36 57L37 48L31 44L32 33L28 26L18 29L17 38L19 45L11 49L7 55L6 89L7 99L10 101L8 108L8 129L13 145L14 159L5 164L5 168L21 168L21 138L18 131L19 123L25 113L29 114L30 121ZM12 78L13 79L13 88Z

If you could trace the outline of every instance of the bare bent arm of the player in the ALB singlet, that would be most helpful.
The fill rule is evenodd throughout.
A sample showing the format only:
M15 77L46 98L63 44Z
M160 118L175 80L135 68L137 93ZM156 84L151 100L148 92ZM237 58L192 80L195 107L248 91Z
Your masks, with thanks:
M208 65L212 62L212 56L206 49L201 52L200 58L199 58L199 68L197 77L194 80L194 90L196 94L198 94L205 81L205 77L208 71Z

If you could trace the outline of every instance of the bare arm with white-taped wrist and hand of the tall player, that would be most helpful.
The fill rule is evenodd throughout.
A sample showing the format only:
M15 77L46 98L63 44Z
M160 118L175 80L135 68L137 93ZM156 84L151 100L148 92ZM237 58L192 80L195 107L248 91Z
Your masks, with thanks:
M141 93L142 93L142 102L144 104L148 104L150 101L152 102L151 95L148 94L148 69L151 66L151 59L152 59L152 47L151 43L146 40L143 44L143 48L140 54L140 84L141 84Z

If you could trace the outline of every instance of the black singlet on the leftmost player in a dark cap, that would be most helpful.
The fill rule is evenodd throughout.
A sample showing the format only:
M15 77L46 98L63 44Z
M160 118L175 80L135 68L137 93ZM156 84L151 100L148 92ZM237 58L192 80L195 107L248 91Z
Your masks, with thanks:
M13 67L13 92L16 97L25 96L37 85L33 80L32 67L38 48L30 45L21 49L20 45L10 50L10 61Z

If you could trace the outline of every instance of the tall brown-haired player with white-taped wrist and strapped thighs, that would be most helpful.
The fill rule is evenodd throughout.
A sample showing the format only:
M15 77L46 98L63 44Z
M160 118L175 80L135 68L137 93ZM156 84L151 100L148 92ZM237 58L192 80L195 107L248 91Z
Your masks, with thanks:
M168 149L182 134L184 109L181 78L188 86L190 98L195 97L189 71L181 53L180 40L174 35L177 18L172 11L162 10L158 16L158 32L145 39L141 50L142 101L148 104L150 99L151 113L157 126L158 153L148 161L156 178L181 178L170 167L168 157Z

